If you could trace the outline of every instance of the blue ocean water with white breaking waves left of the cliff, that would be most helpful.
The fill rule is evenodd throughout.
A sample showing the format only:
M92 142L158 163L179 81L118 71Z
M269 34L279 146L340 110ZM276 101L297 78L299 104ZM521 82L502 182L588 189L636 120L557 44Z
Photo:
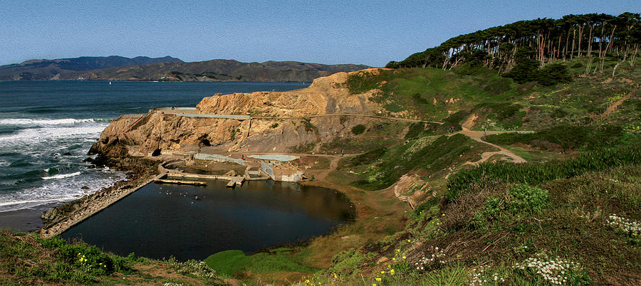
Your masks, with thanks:
M295 90L303 83L0 82L0 228L11 212L93 194L124 174L83 162L110 120L154 107L194 107L216 93ZM85 187L86 188L83 188ZM26 212L28 213L28 212ZM38 212L39 213L39 212ZM4 215L4 216L3 216ZM29 216L33 216L33 212ZM38 214L39 216L39 214ZM9 219L11 218L11 219Z

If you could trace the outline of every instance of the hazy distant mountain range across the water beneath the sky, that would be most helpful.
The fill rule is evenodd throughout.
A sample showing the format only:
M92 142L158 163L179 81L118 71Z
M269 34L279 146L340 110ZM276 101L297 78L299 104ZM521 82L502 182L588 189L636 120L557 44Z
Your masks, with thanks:
M0 66L0 80L140 80L140 81L311 81L367 65L321 65L293 61L241 63L207 60L184 63L178 58L80 57L27 60Z

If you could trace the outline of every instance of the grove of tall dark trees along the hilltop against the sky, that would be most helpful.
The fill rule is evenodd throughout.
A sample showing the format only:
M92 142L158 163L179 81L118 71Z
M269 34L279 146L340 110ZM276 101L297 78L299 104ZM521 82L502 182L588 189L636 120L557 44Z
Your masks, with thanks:
M388 66L449 70L469 60L479 60L471 56L479 51L486 55L482 65L501 73L518 65L516 51L522 47L533 48L529 58L543 65L588 57L585 73L603 73L606 57L617 58L621 63L627 61L632 67L641 48L641 18L634 13L570 14L558 20L517 21L450 38L437 47L412 54L400 62L390 62ZM598 58L597 63L593 62L594 58ZM478 62L474 62L476 64Z

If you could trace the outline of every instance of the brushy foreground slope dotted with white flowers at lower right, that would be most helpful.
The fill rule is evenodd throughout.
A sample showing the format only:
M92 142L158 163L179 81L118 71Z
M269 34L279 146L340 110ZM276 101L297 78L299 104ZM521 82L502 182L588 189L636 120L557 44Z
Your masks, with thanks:
M639 164L613 166L534 185L480 181L454 201L426 201L405 231L337 255L315 279L357 285L635 285L641 271L640 170ZM363 273L365 282L354 282L360 280L354 272Z

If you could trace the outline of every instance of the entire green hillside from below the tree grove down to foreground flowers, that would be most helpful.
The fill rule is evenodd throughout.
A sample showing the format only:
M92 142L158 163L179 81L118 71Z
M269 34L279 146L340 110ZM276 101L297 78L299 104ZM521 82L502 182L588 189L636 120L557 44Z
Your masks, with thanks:
M583 60L563 64L574 73ZM409 127L405 143L340 162L332 178L350 178L343 182L361 189L412 175L402 191L418 206L407 213L403 231L335 255L330 268L301 284L638 285L640 75L636 68L552 86L518 84L489 71L353 75L345 87L376 90L371 100L387 115L445 124ZM518 150L531 163L497 154L464 165L494 147L462 134L439 135L454 125L528 130L483 140Z

